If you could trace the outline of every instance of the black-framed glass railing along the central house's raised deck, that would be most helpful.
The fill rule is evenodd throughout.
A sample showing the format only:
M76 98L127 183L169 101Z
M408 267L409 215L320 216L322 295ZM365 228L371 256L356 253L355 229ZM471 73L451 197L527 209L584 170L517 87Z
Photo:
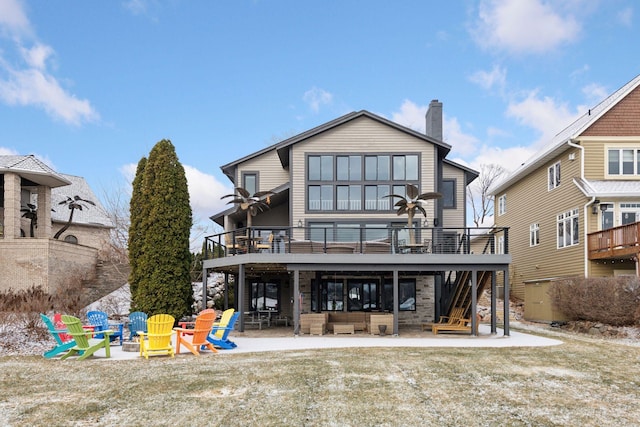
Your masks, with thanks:
M508 241L508 229L495 227L247 227L205 237L204 255L506 254Z

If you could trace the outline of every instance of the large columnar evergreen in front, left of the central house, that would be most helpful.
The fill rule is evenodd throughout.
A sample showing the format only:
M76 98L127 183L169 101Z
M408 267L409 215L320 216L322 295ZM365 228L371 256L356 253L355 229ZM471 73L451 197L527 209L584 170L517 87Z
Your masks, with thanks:
M176 319L191 314L189 233L192 225L187 178L171 141L158 142L144 166L140 253L134 306L149 315ZM133 219L132 219L133 222ZM135 237L135 236L134 236Z

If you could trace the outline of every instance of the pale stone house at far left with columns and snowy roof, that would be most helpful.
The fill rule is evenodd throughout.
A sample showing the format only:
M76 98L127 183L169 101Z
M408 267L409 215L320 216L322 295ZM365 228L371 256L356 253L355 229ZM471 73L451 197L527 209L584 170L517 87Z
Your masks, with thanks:
M71 275L95 279L113 224L83 178L58 173L35 156L2 155L0 195L0 291L42 286L51 292ZM70 227L53 239L69 219L60 202L75 196L96 205L76 210Z

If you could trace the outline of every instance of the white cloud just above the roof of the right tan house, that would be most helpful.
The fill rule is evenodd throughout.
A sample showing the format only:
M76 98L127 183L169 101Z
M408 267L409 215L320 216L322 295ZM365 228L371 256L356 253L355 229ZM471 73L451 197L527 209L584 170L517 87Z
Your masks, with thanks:
M558 132L578 118L579 113L570 111L566 103L559 103L549 96L540 97L534 90L525 99L511 102L507 116L538 131L540 138L534 146L539 147L551 142Z

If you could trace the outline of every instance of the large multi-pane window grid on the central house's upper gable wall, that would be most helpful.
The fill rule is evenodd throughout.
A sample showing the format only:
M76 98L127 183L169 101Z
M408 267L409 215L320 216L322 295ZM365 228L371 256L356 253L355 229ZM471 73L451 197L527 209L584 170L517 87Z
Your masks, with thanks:
M309 155L307 209L390 211L395 201L389 194L404 195L407 183L420 185L419 163L417 154Z

